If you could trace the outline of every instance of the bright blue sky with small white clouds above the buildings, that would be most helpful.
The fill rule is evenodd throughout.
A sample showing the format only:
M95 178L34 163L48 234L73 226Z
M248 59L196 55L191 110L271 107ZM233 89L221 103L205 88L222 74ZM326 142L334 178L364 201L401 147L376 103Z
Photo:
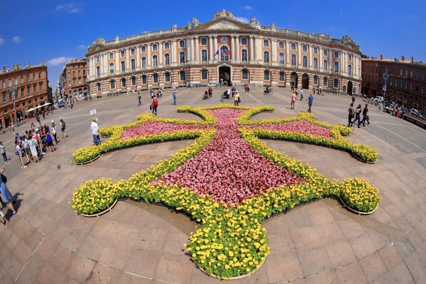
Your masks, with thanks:
M226 9L238 20L261 25L350 35L368 56L426 62L425 0L233 0L222 1L4 0L0 7L0 66L45 61L53 89L63 65L84 57L97 37L112 40L146 31L203 23Z

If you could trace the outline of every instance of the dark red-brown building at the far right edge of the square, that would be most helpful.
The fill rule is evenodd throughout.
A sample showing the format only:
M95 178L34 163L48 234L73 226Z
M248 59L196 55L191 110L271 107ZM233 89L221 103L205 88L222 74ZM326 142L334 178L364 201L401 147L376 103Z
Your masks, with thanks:
M426 115L426 63L401 59L362 58L362 92L385 101L415 108ZM386 96L385 96L385 78Z

